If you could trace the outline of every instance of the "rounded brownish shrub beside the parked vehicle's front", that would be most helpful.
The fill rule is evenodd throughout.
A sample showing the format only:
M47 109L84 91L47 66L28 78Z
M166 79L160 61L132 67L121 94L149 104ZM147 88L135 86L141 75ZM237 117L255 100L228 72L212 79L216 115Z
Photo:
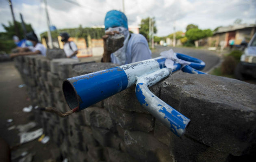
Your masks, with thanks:
M237 61L233 56L228 55L221 64L221 73L224 75L234 74L234 69L236 68Z

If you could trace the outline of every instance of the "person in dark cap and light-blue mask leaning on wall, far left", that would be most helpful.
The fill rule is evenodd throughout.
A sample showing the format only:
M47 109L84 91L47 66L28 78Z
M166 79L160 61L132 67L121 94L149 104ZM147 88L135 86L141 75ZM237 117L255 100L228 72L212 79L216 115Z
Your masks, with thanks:
M43 44L39 43L37 35L34 32L29 32L26 34L26 45L28 47L19 48L18 53L11 53L11 58L20 56L20 55L35 55L41 54L46 56L46 47Z

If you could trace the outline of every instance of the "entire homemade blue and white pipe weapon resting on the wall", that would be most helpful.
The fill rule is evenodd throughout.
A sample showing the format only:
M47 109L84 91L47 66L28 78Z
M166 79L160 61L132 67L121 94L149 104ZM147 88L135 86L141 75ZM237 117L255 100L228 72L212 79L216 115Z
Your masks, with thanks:
M192 62L183 68L181 64L176 63L174 69L170 69L165 67L165 58L158 57L65 79L63 82L65 100L70 109L77 108L80 111L136 85L135 92L141 105L177 136L182 136L190 119L148 89L167 78L171 72L181 68L189 73L200 73L198 70L204 68L204 62L201 60L183 54L177 54L177 57Z

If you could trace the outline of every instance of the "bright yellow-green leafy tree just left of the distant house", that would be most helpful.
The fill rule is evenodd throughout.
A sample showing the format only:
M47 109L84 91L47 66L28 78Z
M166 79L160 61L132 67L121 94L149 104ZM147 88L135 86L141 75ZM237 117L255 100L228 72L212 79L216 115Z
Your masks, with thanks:
M206 38L208 36L212 36L213 32L210 29L206 29L206 30L201 30L198 28L193 28L193 29L189 29L186 32L186 37L189 40L195 41L201 38Z

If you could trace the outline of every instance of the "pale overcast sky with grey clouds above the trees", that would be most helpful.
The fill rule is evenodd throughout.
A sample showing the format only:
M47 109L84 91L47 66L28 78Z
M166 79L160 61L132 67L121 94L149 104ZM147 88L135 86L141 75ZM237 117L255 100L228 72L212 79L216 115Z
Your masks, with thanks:
M67 2L69 1L69 2ZM47 30L43 0L12 0L15 19L22 13L36 34ZM107 11L122 11L122 0L47 0L52 25L58 29L104 25ZM70 2L76 2L72 4ZM236 19L242 23L256 23L256 0L124 0L128 25L139 25L141 19L155 17L157 36L172 33L193 23L200 29L232 25ZM8 0L0 0L0 23L12 21ZM0 32L4 28L0 26Z

